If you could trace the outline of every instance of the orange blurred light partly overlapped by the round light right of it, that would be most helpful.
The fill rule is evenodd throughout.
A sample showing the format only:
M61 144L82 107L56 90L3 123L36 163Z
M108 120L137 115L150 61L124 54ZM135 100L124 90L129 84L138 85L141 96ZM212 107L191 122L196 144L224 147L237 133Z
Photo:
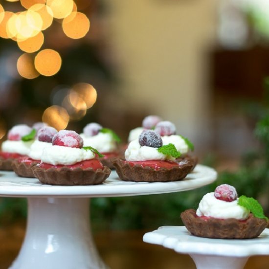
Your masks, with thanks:
M34 66L34 57L32 54L22 54L17 61L17 69L19 74L27 79L33 79L39 76Z

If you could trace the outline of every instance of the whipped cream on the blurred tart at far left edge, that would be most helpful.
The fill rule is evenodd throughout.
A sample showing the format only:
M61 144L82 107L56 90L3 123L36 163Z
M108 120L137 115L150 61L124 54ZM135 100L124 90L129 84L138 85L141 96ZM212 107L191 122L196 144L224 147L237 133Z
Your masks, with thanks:
M22 140L5 140L2 143L1 149L3 152L18 153L21 155L28 155L30 152L30 146L34 141L22 141Z

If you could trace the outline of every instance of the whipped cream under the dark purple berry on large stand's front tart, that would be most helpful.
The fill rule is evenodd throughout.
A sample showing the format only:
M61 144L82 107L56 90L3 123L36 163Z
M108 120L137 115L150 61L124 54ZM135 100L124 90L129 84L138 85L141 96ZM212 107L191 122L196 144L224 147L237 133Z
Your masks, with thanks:
M125 151L125 159L128 161L166 160L166 155L157 151L157 148L140 146L138 139L129 143ZM171 158L170 158L171 159Z

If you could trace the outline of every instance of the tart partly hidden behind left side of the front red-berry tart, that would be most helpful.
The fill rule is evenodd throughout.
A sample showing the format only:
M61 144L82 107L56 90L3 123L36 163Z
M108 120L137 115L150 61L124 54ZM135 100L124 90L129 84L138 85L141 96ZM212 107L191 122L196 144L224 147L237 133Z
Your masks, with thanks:
M32 133L33 138L36 136L36 140L31 145L28 156L17 158L12 163L13 170L18 176L35 178L32 167L40 163L43 150L52 146L51 141L56 133L57 130L55 128L48 126L39 129L37 135L35 132Z

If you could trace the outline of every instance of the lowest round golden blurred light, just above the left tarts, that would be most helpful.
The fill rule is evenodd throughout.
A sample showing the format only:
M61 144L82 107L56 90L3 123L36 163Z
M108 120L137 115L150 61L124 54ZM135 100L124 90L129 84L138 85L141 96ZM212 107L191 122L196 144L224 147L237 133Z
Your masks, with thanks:
M57 130L62 130L67 127L69 115L64 108L51 106L44 111L42 121Z

